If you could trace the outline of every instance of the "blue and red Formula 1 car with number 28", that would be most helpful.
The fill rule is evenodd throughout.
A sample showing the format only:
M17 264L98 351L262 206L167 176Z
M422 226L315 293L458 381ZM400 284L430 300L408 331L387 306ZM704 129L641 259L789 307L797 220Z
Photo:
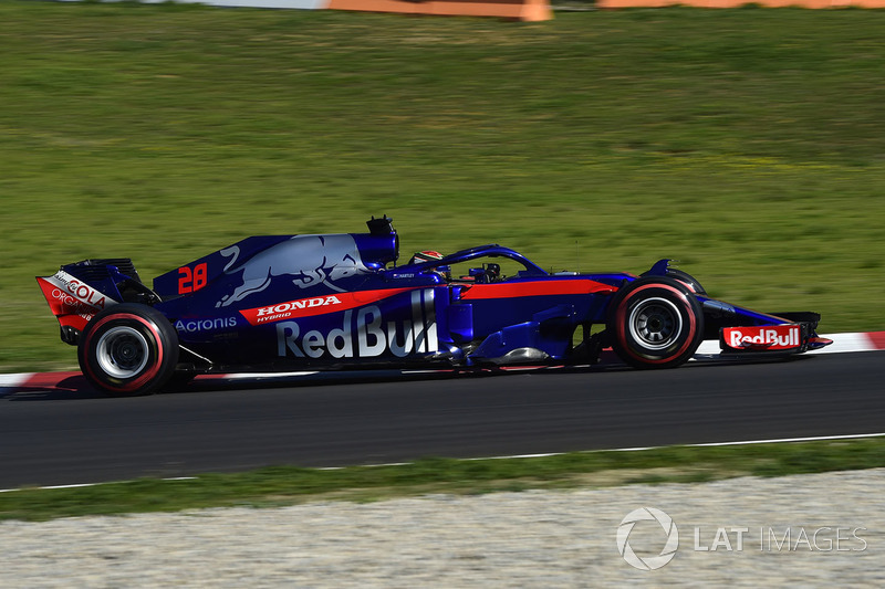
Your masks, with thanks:
M705 338L735 355L830 344L815 333L816 313L710 298L669 260L639 276L552 274L490 244L396 265L392 220L367 225L248 238L153 288L128 259L84 260L37 280L83 374L110 395L208 372L584 365L606 347L636 368L673 368Z

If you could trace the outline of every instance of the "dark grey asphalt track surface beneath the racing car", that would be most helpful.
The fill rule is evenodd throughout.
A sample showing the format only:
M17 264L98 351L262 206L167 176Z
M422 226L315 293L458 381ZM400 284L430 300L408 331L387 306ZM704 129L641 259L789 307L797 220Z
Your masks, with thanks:
M124 399L71 377L0 396L0 488L884 430L875 351L659 371L206 381Z

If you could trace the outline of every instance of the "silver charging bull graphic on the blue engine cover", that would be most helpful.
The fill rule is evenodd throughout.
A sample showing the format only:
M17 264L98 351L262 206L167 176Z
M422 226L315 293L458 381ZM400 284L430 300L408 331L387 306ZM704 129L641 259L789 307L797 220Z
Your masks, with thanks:
M242 284L232 294L225 296L216 307L226 307L238 301L260 293L272 278L291 276L292 284L299 288L311 288L320 284L343 293L344 288L334 283L342 278L369 272L360 257L360 250L353 236L346 233L333 235L295 235L242 264L236 264L239 250L230 248L221 252L232 255L225 273L242 272Z

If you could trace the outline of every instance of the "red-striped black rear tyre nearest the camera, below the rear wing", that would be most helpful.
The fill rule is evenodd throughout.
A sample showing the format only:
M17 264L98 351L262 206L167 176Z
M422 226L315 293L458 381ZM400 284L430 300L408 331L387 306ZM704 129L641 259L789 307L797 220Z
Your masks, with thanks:
M122 303L90 320L77 359L83 376L107 395L149 395L175 374L178 334L155 308Z

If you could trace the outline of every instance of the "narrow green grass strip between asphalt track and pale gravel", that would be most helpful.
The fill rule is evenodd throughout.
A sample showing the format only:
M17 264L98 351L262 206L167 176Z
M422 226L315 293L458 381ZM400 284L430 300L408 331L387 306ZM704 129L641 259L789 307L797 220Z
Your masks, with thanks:
M428 493L477 494L626 483L693 483L735 476L783 476L885 466L885 439L670 446L530 459L425 459L404 465L341 470L277 466L194 480L143 478L80 488L0 493L0 519L274 507L304 501L376 501Z

